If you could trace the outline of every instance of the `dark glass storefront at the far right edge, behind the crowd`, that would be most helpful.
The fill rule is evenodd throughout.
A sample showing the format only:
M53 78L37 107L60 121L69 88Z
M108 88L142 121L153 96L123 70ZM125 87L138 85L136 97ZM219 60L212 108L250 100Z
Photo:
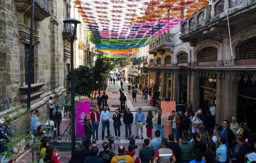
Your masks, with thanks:
M245 83L241 80L238 85L238 123L245 121L251 132L256 132L256 83L252 83L251 80Z

